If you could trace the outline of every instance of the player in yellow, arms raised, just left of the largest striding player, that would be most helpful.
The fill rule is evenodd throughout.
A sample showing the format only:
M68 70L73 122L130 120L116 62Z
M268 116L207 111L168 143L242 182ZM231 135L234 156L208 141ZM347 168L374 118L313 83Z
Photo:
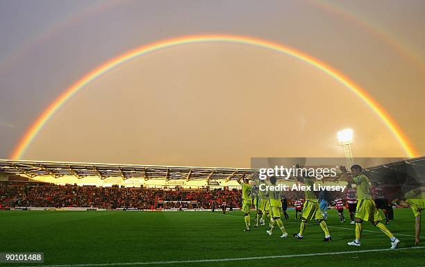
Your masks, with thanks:
M299 168L299 165L297 164L297 168ZM306 186L310 187L310 189L313 188L314 181L308 178L303 177L297 177L298 182L301 182L303 184L306 184ZM301 216L301 225L299 227L299 233L293 234L293 236L296 239L303 239L304 238L304 230L306 230L307 222L315 218L317 222L319 223L320 227L322 228L325 238L323 241L331 241L331 234L328 230L328 225L324 221L323 214L320 212L319 207L319 200L317 200L315 194L312 190L305 190L305 199L306 202L304 202L303 207L303 214Z

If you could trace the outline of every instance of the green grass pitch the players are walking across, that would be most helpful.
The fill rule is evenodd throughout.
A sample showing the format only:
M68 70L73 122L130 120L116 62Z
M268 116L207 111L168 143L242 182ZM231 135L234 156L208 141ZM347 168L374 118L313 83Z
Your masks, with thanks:
M265 226L243 232L241 212L0 212L0 252L44 252L41 266L425 266L425 246L412 248L410 209L395 210L389 225L401 250L383 250L390 241L370 223L362 246L347 246L354 225L340 223L335 210L328 213L333 241L322 241L315 222L294 239L299 223L289 214L283 223L291 236L281 239ZM204 259L212 261L197 261ZM12 266L28 265L37 264Z

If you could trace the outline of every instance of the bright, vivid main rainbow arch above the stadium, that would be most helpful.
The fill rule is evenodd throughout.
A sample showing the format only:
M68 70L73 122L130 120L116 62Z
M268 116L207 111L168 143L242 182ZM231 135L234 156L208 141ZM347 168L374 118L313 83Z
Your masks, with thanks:
M358 85L353 83L349 78L342 75L336 69L329 67L324 62L313 58L311 55L293 49L289 46L284 46L282 44L278 44L276 42L271 42L268 40L258 39L256 37L247 37L247 36L239 36L239 35L190 35L177 37L172 39L163 40L160 42L154 42L152 44L147 44L144 46L140 46L136 49L128 51L122 55L119 55L112 60L108 60L104 62L99 67L93 69L88 74L83 76L80 80L76 81L71 87L65 90L55 101L53 101L47 108L40 114L40 116L32 123L31 127L26 130L24 137L19 141L19 144L15 147L10 155L12 160L21 159L22 155L25 153L26 148L31 144L33 139L38 135L38 132L43 128L44 124L49 121L49 119L55 114L55 112L74 94L83 89L86 85L90 84L93 80L96 80L100 76L106 74L111 69L118 67L134 58L137 58L141 55L146 55L147 53L151 53L154 51L158 51L160 49L165 49L171 46L178 46L183 44L196 44L196 43L235 43L235 44L247 44L251 46L257 46L264 49L271 49L278 53L285 53L286 55L291 55L294 58L302 60L310 64L313 67L317 67L317 69L322 70L324 73L338 80L338 82L342 83L345 87L351 90L356 96L361 98L372 110L373 112L385 123L385 126L392 132L394 137L399 141L399 144L406 151L406 154L409 157L417 156L417 151L410 143L410 140L403 133L401 128L397 125L397 123L392 119L390 114L388 114L379 103L372 98L367 92L360 88Z

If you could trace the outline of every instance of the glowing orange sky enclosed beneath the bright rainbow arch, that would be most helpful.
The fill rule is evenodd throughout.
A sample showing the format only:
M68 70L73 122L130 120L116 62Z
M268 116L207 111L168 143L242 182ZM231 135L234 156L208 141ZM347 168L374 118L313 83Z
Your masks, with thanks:
M369 107L319 69L242 44L188 44L89 85L25 157L247 167L251 157L343 156L335 133L346 127L356 156L404 155Z

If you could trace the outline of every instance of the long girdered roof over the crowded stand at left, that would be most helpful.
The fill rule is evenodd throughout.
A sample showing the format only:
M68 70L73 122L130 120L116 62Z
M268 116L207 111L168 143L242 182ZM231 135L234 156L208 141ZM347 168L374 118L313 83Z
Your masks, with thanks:
M51 175L60 178L65 175L78 179L85 177L165 179L165 180L234 180L242 176L253 177L256 170L243 168L153 166L131 164L105 164L84 162L45 162L25 160L0 160L0 171L29 178Z

